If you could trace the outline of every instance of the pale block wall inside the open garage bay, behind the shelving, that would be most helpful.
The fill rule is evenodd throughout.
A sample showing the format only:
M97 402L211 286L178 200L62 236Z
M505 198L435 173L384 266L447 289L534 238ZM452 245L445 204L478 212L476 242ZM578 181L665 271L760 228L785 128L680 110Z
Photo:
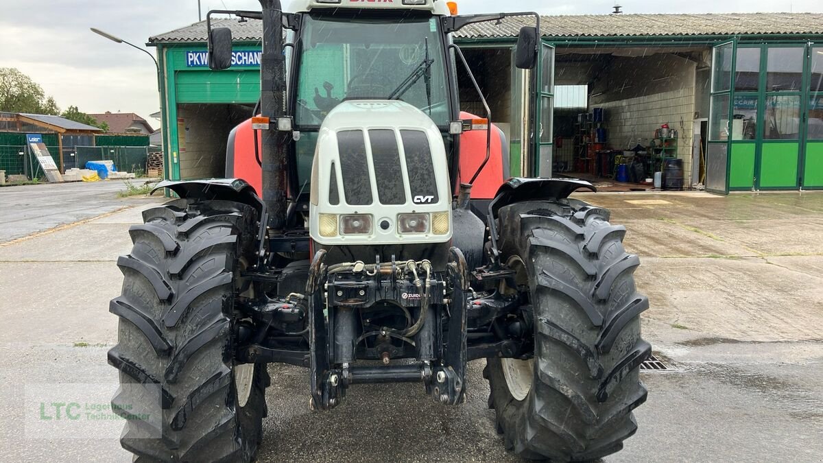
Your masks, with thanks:
M684 185L691 185L692 117L695 114L694 87L636 96L598 105L606 110L609 145L628 149L638 143L647 145L654 130L667 123L677 130L677 157L683 160ZM682 124L681 124L682 121Z

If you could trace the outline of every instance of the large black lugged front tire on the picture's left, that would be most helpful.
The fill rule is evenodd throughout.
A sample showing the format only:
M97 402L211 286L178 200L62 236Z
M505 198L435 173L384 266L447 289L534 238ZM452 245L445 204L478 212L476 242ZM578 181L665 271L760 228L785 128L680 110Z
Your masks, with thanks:
M269 376L264 365L243 370L232 359L235 291L256 211L179 199L143 221L129 230L132 252L118 260L123 292L109 305L120 317L109 350L121 385L112 408L127 419L120 443L136 460L251 461ZM245 404L238 372L251 379Z

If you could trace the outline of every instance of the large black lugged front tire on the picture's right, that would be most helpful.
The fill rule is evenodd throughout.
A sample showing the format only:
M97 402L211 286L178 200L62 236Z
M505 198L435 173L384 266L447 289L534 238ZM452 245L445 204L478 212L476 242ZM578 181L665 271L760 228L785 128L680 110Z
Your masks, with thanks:
M523 458L595 460L619 451L637 430L631 411L647 395L639 364L651 353L639 314L649 300L636 292L639 260L623 248L625 228L608 218L607 210L573 199L500 209L502 260L523 262L519 277L531 296L533 373L488 358L484 376L498 432ZM523 381L510 389L506 374ZM530 389L518 393L529 378Z

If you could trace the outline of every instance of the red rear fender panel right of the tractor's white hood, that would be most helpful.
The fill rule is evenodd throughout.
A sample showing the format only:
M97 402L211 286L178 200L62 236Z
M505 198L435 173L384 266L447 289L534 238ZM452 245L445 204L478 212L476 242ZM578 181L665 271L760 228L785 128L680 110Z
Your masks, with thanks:
M460 113L460 119L478 119L479 116ZM493 199L497 189L509 178L504 172L504 134L496 125L491 128L491 156L486 167L472 185L472 199ZM486 158L486 130L472 130L460 135L460 183L472 180L483 159Z

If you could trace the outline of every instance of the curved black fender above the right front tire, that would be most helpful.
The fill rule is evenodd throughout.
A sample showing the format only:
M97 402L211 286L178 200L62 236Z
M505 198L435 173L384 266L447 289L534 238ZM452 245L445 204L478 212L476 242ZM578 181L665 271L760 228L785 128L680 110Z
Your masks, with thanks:
M491 257L493 264L500 265L500 254L497 249L497 241L500 236L497 232L497 211L509 204L520 201L534 201L539 199L566 199L574 191L585 188L597 192L594 185L586 180L579 179L527 179L514 177L507 180L497 189L495 199L489 203L489 213L486 217L486 225L489 227L489 237L491 239Z

